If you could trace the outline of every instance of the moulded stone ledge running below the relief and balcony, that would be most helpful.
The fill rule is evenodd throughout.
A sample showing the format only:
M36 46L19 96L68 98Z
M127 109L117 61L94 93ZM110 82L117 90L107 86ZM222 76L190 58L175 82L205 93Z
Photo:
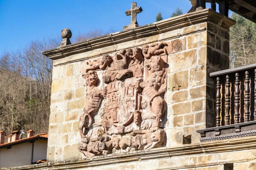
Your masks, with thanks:
M135 162L138 160L150 160L160 158L170 158L174 156L198 155L203 153L218 153L240 151L244 149L255 149L255 136L232 138L228 140L201 142L174 147L162 147L149 150L133 151L119 154L109 154L93 157L90 159L77 159L63 162L42 163L35 165L17 166L10 168L0 168L0 170L32 170L49 169L64 170L78 169L93 166L110 165L124 162Z

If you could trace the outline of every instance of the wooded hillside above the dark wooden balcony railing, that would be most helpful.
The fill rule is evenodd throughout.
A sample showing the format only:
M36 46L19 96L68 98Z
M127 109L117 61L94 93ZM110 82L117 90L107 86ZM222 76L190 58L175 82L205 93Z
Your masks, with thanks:
M233 13L236 24L230 28L230 67L256 63L256 24Z

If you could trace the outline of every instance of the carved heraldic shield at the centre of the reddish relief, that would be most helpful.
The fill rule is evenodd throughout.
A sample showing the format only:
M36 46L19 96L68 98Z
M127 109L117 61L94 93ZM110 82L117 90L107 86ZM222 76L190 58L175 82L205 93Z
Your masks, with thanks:
M138 108L138 92L135 90L138 83L138 79L129 78L107 85L105 113L114 126L126 126L133 121L133 112Z

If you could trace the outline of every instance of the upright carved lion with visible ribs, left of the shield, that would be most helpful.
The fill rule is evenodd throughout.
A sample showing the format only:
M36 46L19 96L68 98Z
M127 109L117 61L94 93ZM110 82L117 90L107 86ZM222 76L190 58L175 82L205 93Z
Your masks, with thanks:
M98 75L96 72L90 70L88 73L83 74L82 77L86 80L87 91L85 96L86 104L79 118L79 131L80 136L84 138L84 128L89 128L94 123L93 115L100 106L101 100L106 96L106 91L105 89L99 90L97 88Z

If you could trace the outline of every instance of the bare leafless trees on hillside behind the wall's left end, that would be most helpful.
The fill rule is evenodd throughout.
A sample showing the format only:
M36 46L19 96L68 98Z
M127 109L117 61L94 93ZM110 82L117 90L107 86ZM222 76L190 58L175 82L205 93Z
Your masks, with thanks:
M101 30L80 34L75 42L102 35ZM0 130L33 129L48 132L52 60L42 51L59 46L61 38L35 41L16 52L0 56ZM73 42L74 43L74 42Z

